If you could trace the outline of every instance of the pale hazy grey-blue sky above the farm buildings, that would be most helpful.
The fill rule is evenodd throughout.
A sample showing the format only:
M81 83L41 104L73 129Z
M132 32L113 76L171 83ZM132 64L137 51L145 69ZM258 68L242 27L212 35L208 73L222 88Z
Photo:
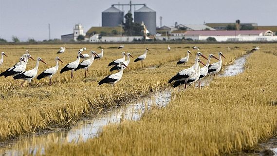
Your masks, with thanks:
M0 38L20 40L48 39L47 24L51 24L51 38L73 33L75 23L82 23L85 31L101 25L101 12L112 3L129 0L0 0ZM146 3L163 17L163 25L203 24L206 22L255 22L277 25L277 0L132 0ZM136 9L139 9L137 6ZM121 9L121 8L120 8ZM124 7L125 13L129 7Z

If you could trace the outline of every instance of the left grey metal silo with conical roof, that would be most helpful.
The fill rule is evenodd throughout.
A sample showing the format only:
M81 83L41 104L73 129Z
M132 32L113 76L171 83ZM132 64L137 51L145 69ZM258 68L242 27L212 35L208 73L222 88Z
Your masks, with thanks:
M111 6L102 12L102 26L118 26L124 18L123 11Z

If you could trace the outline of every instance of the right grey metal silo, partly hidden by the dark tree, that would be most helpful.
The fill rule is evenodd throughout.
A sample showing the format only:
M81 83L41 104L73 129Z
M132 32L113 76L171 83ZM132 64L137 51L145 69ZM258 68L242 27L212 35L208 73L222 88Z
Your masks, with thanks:
M142 8L134 11L134 19L136 23L142 23L147 27L147 30L151 35L156 34L156 11L143 6Z

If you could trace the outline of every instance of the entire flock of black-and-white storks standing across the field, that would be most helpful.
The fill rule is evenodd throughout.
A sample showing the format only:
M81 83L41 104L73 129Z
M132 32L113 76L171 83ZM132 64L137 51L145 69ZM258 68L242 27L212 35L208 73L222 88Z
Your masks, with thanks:
M122 49L124 48L124 45L121 45L118 47L118 49ZM168 49L170 48L169 45L167 47ZM61 47L60 50L57 52L57 54L60 53L64 53L65 52L66 47ZM198 47L193 47L193 49L199 49ZM74 79L74 71L76 70L80 70L80 69L84 69L85 70L85 78L87 77L87 70L88 68L92 65L93 61L95 59L101 59L104 56L104 50L101 50L101 53L97 54L95 51L91 51L90 55L89 54L82 54L83 51L85 51L86 48L83 47L81 49L78 50L77 52L77 59L71 63L68 63L67 65L65 65L61 71L60 74L66 72L66 71L71 71L71 78ZM259 50L259 47L254 48L253 50ZM148 48L145 49L145 53L142 54L141 56L137 57L134 62L137 61L143 61L146 59L147 57L147 52L150 51ZM191 54L191 52L188 50L186 52L187 56L185 58L180 59L177 64L185 64L188 62L189 57ZM1 59L0 59L0 66L3 63L3 56L7 55L4 52L1 52ZM127 60L125 60L125 57L127 57ZM118 82L123 75L123 71L124 69L129 69L128 65L130 63L130 57L134 59L134 57L130 54L130 53L125 53L122 52L122 58L120 59L115 59L113 61L111 61L109 63L108 66L113 66L111 67L110 71L119 71L118 73L115 74L111 74L109 76L107 76L106 78L103 78L101 81L99 81L98 85L104 84L104 83L108 83L108 84L112 84L112 86L114 86L114 84L116 82ZM201 61L200 57L202 57L203 59L206 59L207 62L206 64L203 63L203 61ZM217 73L220 72L221 67L222 67L222 57L225 59L225 57L223 56L222 52L219 52L219 59L217 57L215 57L213 54L210 54L208 58L206 58L201 52L197 52L196 54L196 58L194 59L194 64L193 66L181 70L180 72L178 72L174 77L172 77L168 83L171 83L174 81L173 86L177 87L181 84L185 84L185 88L187 85L191 85L194 82L199 82L199 87L201 87L201 80L207 76L207 75L216 75ZM80 58L84 59L82 62L80 62ZM210 60L214 58L217 59L218 62L215 62L213 64L210 64ZM28 63L28 60L32 59L32 56L29 54L29 51L27 50L25 52L24 55L22 55L19 58L19 62L16 63L13 67L8 68L6 71L0 73L0 77L4 76L9 77L12 76L14 79L23 79L24 81L21 83L21 86L23 87L23 83L27 80L29 81L29 83L31 83L32 79L37 77L37 79L42 79L42 78L49 78L49 84L52 84L52 77L53 75L55 75L55 73L58 71L59 68L59 63L58 61L60 61L61 63L62 60L59 57L55 57L55 62L56 65L52 68L46 69L44 70L41 74L39 74L37 76L37 70L38 70L38 65L39 62L43 62L45 64L47 64L43 59L41 58L37 58L37 64L36 66L32 69L32 70L26 70L26 65ZM203 64L204 67L200 68L199 63Z

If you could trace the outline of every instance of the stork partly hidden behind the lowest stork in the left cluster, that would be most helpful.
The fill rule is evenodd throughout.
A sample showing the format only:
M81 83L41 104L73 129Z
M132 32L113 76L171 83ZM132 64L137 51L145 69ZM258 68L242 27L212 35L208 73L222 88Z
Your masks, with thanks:
M9 76L16 76L18 74L23 73L26 70L26 65L28 63L28 59L29 58L33 59L30 54L27 54L25 56L25 58L26 58L26 61L24 63L22 63L21 65L14 66L14 67L11 67L11 68L7 69L6 71L4 71L0 74L0 77L4 76L5 78L7 78Z

